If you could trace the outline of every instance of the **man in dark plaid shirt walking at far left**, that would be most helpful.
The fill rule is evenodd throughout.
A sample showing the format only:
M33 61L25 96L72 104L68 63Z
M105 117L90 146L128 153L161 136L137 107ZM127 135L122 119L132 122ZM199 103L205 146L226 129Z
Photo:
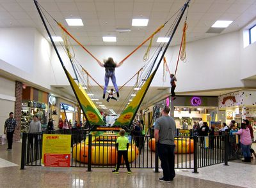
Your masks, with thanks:
M13 118L13 112L9 113L9 118L5 120L4 123L4 134L6 134L8 141L7 150L12 150L13 134L15 127L17 126L16 120Z

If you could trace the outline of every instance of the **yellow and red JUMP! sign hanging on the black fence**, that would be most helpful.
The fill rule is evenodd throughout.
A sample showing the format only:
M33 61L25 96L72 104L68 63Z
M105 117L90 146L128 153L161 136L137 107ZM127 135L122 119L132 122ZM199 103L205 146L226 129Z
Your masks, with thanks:
M70 167L70 134L43 134L42 164Z

